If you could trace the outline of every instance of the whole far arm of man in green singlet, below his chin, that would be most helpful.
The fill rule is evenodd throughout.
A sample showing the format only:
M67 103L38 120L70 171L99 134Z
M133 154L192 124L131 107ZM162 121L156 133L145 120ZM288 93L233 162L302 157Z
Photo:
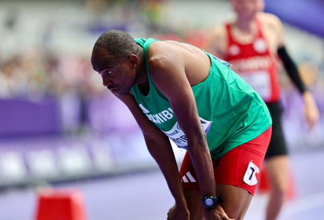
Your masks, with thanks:
M183 209L182 211L187 212L189 215L182 190L178 166L169 138L147 119L136 103L133 95L115 95L128 106L141 128L147 149L165 176L171 194L175 198L177 207Z

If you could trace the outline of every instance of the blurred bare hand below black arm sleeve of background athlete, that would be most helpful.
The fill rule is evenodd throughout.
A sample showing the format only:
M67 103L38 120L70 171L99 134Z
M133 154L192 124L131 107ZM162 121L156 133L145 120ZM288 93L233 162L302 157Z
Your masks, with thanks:
M310 92L304 92L304 114L310 129L313 129L319 119L319 111Z

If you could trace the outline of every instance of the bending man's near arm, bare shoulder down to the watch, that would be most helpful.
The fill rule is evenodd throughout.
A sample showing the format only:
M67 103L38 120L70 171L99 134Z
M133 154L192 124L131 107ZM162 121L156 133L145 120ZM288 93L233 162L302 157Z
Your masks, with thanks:
M152 57L149 65L154 84L168 97L177 121L187 137L188 153L198 177L201 195L215 195L212 160L184 64L177 55L170 52L165 56Z

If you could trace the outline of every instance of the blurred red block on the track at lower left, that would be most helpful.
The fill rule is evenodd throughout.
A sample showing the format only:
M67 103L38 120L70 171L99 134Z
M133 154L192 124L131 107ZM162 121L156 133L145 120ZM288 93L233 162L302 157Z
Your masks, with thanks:
M82 194L75 189L37 192L36 220L87 220Z

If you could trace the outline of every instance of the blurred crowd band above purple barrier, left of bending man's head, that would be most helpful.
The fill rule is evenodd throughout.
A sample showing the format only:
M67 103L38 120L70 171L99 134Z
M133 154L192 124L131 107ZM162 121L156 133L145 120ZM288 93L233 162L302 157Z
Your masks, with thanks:
M85 57L62 58L35 50L9 58L0 68L1 98L27 96L37 99L69 92L100 92Z

